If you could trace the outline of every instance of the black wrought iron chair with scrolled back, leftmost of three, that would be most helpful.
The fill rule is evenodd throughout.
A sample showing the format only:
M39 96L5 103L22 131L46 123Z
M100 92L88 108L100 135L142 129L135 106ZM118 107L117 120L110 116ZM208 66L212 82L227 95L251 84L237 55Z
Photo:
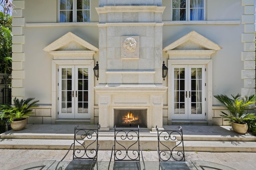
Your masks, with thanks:
M98 150L100 144L98 144L98 131L97 129L79 129L76 125L74 130L74 143L71 144L68 152L73 147L73 160L69 162L65 170L92 170L95 164L98 169ZM68 152L62 158L60 162L64 160ZM58 165L57 165L58 166ZM56 167L57 168L57 167ZM58 168L62 170L62 168Z

